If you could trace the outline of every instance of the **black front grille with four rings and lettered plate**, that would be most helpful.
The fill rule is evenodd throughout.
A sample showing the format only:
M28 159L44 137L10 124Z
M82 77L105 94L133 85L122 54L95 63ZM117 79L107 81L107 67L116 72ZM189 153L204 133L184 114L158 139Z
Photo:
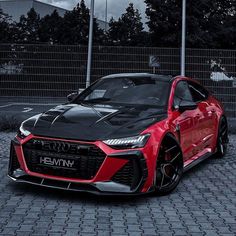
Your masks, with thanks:
M32 172L84 180L95 177L106 157L95 145L44 139L30 140L23 151Z

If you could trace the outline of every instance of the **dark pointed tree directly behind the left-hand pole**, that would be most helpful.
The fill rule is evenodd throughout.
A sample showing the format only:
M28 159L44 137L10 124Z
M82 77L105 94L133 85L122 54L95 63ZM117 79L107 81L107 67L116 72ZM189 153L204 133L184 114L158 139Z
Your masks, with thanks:
M81 0L72 11L66 12L62 27L62 44L87 44L89 35L90 14L84 0ZM94 43L100 43L103 40L104 32L99 29L96 18L94 19Z

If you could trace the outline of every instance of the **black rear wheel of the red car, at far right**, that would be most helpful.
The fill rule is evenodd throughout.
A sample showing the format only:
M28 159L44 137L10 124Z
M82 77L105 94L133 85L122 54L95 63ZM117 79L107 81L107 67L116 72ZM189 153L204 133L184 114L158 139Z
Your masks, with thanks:
M228 124L226 118L222 117L218 129L216 157L221 158L226 154L228 142Z

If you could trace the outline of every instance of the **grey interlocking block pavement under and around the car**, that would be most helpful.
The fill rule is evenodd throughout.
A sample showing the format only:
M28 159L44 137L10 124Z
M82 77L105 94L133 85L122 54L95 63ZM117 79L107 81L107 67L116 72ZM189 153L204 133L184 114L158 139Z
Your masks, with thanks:
M11 182L12 137L0 134L0 235L236 235L236 136L225 158L187 172L171 195L132 198Z

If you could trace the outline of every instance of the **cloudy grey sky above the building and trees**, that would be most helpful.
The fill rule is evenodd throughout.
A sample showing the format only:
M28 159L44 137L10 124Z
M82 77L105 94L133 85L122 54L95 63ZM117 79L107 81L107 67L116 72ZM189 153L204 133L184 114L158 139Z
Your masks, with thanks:
M68 10L73 9L79 0L39 0L52 5L56 5ZM91 0L85 0L86 5L89 7ZM117 19L127 8L128 4L134 3L135 8L138 8L142 14L143 21L145 20L145 3L144 0L107 0L108 3L108 19L114 17ZM95 0L95 16L101 20L105 19L105 6L106 0Z

